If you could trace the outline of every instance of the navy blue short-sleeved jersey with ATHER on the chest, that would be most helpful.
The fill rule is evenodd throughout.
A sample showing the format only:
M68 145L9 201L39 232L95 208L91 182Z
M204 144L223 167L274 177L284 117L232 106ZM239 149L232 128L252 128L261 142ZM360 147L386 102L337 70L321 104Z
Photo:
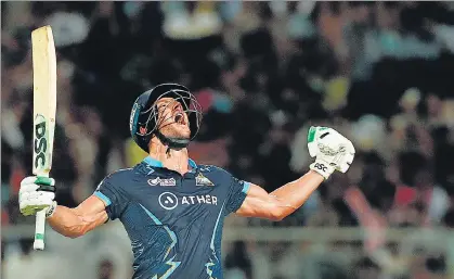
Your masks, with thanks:
M184 176L146 157L107 176L94 194L131 240L133 279L221 279L223 219L239 208L249 183L190 160Z

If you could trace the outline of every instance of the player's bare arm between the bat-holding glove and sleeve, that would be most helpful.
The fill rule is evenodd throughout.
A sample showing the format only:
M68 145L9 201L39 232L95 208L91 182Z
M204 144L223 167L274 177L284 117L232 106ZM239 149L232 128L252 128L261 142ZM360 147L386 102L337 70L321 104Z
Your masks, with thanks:
M100 198L91 195L75 208L57 205L47 220L56 232L77 238L107 220L105 206Z

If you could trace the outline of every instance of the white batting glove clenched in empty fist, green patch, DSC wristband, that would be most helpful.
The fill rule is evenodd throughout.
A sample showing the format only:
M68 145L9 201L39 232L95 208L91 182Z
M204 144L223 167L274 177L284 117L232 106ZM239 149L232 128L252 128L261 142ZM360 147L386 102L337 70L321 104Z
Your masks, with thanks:
M311 127L308 134L308 149L315 162L310 169L317 172L325 179L335 172L347 173L354 158L353 143L335 129Z

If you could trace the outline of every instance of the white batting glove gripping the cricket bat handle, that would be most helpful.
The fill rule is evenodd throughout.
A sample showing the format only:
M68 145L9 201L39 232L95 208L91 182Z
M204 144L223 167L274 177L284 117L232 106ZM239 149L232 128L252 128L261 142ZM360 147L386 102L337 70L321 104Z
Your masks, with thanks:
M18 204L24 216L36 215L44 208L46 217L50 217L56 207L55 180L48 177L29 176L21 181Z

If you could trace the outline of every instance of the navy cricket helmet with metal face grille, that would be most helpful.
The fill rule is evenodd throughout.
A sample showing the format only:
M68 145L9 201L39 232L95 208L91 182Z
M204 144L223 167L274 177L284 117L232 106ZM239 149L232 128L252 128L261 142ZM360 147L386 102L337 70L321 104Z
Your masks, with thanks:
M183 112L189 116L190 139L169 138L159 131L160 123L167 121L167 118L158 118L156 101L161 98L173 98L181 103ZM186 87L178 84L160 84L135 100L129 118L129 130L132 139L145 152L148 152L148 143L153 136L156 136L168 148L182 149L197 136L202 117L202 106Z

